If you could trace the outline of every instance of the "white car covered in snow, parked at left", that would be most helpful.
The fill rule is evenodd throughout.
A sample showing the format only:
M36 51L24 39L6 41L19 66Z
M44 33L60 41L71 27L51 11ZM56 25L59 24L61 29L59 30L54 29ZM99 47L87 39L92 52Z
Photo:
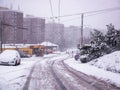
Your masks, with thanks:
M17 50L5 50L0 54L0 64L19 65L21 62L20 54Z

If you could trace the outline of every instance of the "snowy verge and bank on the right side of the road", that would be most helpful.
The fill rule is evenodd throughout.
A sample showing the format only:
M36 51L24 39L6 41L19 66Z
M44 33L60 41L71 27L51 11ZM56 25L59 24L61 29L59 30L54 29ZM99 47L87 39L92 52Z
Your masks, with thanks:
M89 63L75 61L74 58L65 61L66 64L85 74L95 76L120 87L120 51L104 55Z

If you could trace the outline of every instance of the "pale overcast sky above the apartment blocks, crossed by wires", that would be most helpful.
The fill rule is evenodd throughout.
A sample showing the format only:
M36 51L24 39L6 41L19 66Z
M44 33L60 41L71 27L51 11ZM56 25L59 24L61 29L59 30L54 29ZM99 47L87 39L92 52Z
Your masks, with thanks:
M17 10L19 6L24 15L30 14L36 17L51 17L49 1L50 0L0 0L0 5L9 8L12 5L13 10ZM51 0L54 16L58 16L58 2L59 0ZM60 2L60 15L120 7L120 0L60 0ZM65 26L80 26L80 20L80 15L60 18L60 22L65 24ZM58 22L57 19L55 21ZM113 23L116 28L120 29L120 10L84 17L84 26L92 28L105 29L105 25L109 23Z

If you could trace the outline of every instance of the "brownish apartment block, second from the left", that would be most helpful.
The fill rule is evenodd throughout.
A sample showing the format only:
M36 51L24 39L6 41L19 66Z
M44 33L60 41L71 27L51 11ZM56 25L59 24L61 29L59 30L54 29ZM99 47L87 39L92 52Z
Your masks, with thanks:
M37 44L45 39L45 19L26 16L24 18L24 43Z

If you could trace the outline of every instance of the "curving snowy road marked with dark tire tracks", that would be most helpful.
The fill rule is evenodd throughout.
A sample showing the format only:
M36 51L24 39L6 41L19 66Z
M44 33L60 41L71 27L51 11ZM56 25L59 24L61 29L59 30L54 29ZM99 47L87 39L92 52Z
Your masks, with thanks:
M34 64L22 90L119 90L64 63L66 55L45 57Z

